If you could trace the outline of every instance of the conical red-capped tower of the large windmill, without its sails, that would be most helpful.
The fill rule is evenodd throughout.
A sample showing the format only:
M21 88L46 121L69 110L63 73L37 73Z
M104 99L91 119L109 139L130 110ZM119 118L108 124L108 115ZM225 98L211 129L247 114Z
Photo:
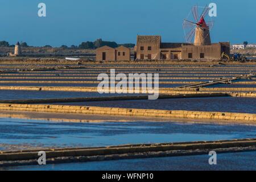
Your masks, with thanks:
M210 31L209 27L205 23L204 18L202 17L196 26L195 33L195 46L210 46Z

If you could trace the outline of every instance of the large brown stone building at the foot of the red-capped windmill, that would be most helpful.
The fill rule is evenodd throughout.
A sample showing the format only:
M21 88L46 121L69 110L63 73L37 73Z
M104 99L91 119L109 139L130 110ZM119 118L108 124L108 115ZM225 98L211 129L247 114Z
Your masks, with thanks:
M200 34L200 30L197 30ZM162 43L161 36L137 36L136 58L139 60L180 60L180 59L220 59L221 53L229 55L229 42L210 43L196 36L200 46L190 43Z

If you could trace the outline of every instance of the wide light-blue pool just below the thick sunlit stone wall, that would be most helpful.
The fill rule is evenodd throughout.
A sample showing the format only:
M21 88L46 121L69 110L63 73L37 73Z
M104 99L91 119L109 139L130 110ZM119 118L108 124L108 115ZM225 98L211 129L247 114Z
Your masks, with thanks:
M225 140L255 138L255 134L256 126L241 125L144 121L70 123L34 119L0 119L0 147L5 147L6 150Z

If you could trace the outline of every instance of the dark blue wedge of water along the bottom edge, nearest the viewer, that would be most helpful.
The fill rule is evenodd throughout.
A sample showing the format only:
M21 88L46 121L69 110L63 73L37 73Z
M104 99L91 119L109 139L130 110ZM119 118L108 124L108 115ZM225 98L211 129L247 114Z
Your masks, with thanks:
M126 159L101 162L20 166L6 170L84 170L84 171L175 171L175 170L256 170L256 151L217 154L217 165L209 165L209 155ZM1 168L0 168L1 169Z

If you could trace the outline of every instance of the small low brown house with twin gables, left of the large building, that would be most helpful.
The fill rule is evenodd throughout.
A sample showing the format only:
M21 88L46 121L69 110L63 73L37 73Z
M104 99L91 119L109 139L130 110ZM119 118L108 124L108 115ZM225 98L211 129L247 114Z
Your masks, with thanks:
M130 49L124 46L103 46L96 49L96 61L130 61L130 54Z

